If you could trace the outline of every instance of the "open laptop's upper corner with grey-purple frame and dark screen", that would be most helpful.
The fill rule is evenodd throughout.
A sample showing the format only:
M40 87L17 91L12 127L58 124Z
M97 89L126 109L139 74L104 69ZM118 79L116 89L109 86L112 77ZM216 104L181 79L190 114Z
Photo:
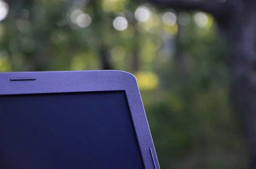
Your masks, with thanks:
M135 77L0 73L0 169L160 169Z

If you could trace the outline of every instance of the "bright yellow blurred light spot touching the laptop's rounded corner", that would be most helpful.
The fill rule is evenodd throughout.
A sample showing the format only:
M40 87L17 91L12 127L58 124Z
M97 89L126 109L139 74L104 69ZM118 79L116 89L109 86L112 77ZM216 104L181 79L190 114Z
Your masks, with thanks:
M141 90L153 90L159 85L158 76L153 72L137 72L134 76Z

